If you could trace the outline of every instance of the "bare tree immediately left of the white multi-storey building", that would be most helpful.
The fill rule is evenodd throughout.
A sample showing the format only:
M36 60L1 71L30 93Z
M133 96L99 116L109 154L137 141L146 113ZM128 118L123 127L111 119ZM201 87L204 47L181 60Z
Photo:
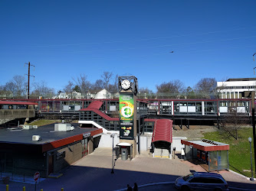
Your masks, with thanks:
M199 92L203 98L209 99L212 95L215 95L215 86L217 82L215 78L203 78L195 84L196 92Z

